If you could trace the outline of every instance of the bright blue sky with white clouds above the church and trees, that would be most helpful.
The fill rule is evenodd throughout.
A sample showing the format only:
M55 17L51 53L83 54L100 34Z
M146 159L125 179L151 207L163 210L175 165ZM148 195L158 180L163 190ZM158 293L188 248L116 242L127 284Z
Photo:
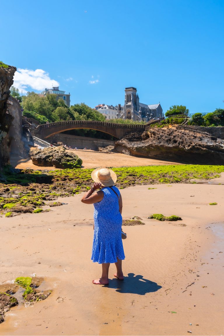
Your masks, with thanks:
M72 104L94 107L124 104L134 86L140 102L160 101L164 112L224 108L223 0L11 0L10 8L0 59L21 69L23 91L58 82Z

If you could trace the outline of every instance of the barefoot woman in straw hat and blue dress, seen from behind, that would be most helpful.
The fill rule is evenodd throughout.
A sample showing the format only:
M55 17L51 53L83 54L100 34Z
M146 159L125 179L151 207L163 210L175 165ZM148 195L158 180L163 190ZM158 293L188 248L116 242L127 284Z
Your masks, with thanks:
M108 285L110 263L115 263L115 277L123 280L122 260L125 259L122 244L122 197L114 185L117 175L113 170L97 168L92 172L94 185L82 197L81 201L94 205L94 237L92 261L102 264L102 276L93 280L96 285ZM102 187L101 190L95 191Z

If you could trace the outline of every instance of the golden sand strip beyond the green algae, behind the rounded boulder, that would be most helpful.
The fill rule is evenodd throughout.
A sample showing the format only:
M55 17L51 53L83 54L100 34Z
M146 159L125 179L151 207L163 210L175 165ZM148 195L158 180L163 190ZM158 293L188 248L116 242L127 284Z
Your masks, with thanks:
M153 160L147 158L138 158L134 156L129 156L121 153L107 154L103 152L96 152L91 150L68 150L67 152L73 152L80 159L83 160L82 168L98 168L98 167L133 167L133 166L151 166L151 165L170 165L179 164L177 162ZM20 159L11 158L11 164L18 169L48 169L54 170L55 167L38 167L32 163L31 159Z

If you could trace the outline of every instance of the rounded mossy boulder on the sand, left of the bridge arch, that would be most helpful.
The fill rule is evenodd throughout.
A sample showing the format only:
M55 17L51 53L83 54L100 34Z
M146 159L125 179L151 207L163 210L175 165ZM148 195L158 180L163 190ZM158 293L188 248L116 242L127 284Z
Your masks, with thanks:
M30 153L36 166L55 166L56 168L81 168L82 160L72 152L66 152L62 146L34 149Z

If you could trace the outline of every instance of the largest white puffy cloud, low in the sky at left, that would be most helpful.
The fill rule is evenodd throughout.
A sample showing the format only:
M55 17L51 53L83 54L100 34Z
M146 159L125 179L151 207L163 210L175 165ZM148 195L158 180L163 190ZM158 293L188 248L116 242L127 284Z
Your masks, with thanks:
M18 88L19 91L23 90L26 93L30 89L43 91L45 88L59 86L59 83L51 79L49 74L42 69L17 69L14 75L13 86Z

